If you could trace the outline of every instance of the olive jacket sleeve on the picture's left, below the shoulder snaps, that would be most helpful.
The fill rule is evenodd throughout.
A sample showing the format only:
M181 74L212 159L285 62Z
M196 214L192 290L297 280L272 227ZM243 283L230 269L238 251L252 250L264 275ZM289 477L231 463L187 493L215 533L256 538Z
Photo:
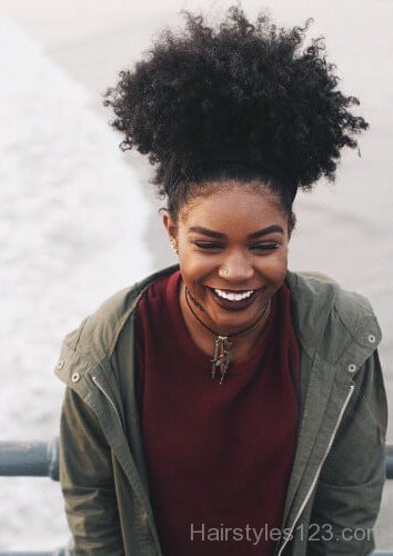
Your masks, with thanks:
M67 388L60 428L60 481L73 535L70 548L75 555L124 554L111 458L97 417Z

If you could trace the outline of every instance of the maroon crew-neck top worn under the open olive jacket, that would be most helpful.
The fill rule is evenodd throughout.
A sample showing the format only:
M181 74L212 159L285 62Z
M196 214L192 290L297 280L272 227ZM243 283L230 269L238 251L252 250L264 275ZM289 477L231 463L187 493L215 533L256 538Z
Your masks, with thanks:
M137 311L139 401L163 553L272 556L298 419L289 289L272 299L251 357L231 363L220 385L185 326L180 284L179 271L154 282Z

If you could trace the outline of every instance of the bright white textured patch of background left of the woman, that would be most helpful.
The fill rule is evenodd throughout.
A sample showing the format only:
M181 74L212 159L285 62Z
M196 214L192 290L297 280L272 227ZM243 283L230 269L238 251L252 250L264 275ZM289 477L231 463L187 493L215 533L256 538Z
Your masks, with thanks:
M62 337L151 271L150 207L85 91L12 23L0 37L0 439L44 440ZM64 543L59 485L0 478L0 549Z

